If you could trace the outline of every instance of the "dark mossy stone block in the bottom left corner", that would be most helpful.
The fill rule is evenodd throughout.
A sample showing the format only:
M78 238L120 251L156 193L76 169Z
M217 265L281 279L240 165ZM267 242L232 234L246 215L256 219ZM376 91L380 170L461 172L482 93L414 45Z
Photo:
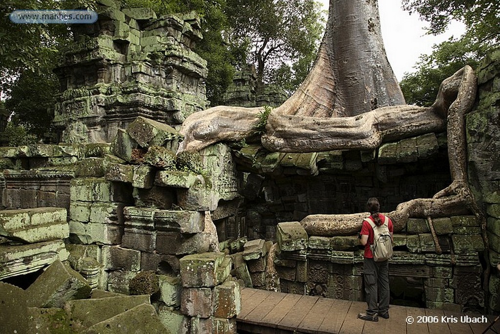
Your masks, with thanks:
M20 287L0 282L0 333L28 333L26 321L19 317L26 314L26 291Z

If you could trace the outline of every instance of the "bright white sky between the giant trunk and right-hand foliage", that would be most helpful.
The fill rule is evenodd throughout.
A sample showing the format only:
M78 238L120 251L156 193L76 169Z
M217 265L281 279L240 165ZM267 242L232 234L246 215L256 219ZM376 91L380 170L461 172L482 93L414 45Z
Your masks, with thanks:
M318 0L328 9L328 0ZM428 24L421 21L418 14L409 15L401 9L400 0L378 0L380 26L383 44L392 71L400 81L405 73L415 72L413 66L422 54L429 54L432 45L446 41L451 36L459 37L464 27L453 22L444 34L426 35Z

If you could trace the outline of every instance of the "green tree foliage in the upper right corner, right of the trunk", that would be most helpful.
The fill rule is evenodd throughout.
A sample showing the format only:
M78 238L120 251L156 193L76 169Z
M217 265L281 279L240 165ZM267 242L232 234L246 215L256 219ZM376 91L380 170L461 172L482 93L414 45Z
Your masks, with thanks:
M433 46L423 55L416 72L400 82L408 104L431 105L440 83L465 65L476 67L486 51L500 42L500 7L496 1L403 0L403 9L429 22L430 34L446 30L451 20L464 23L466 32Z

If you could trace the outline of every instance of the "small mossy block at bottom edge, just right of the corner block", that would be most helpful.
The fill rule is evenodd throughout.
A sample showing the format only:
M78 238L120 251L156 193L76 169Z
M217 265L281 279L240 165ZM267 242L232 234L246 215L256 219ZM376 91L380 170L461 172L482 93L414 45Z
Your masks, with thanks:
M62 308L28 307L26 319L28 327L26 333L52 334L73 332L69 325L68 316Z

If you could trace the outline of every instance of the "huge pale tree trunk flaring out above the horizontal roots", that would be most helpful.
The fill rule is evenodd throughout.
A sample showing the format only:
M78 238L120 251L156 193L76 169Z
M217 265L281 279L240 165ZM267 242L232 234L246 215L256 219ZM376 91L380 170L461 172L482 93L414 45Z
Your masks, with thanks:
M274 114L345 117L405 104L387 61L376 0L330 0L313 69Z

